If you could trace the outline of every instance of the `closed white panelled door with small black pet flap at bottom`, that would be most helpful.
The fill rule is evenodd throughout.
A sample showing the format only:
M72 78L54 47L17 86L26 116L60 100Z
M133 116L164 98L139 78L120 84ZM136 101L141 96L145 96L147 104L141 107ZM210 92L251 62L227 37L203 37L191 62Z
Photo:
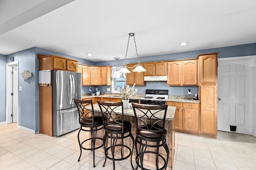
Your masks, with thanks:
M252 135L253 59L218 59L218 130Z

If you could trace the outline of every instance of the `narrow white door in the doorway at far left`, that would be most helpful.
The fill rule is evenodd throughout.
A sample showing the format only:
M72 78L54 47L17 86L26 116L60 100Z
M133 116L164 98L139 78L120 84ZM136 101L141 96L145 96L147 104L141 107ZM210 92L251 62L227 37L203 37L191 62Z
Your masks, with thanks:
M18 122L18 62L6 64L6 123Z

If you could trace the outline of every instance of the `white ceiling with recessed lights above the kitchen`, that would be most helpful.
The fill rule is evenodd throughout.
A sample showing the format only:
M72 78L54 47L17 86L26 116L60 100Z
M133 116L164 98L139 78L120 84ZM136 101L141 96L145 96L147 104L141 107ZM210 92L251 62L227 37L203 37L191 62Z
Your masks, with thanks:
M130 32L139 57L256 43L256 0L0 0L3 55L40 47L124 59Z

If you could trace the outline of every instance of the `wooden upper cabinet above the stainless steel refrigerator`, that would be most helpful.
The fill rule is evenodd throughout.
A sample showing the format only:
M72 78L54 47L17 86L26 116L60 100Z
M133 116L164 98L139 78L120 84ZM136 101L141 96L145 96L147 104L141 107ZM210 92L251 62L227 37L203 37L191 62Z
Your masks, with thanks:
M77 72L76 60L66 59L55 55L38 55L39 70L68 70Z

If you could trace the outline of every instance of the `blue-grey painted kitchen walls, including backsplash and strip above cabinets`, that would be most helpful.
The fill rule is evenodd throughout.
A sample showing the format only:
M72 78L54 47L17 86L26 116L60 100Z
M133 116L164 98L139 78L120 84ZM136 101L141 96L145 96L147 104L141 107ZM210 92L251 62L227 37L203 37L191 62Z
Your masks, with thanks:
M238 57L238 56L248 56L256 55L256 43L237 45L232 47L222 47L216 49L206 49L198 51L188 51L182 53L173 53L166 55L148 56L140 57L141 62L150 61L166 61L166 60L177 60L177 59L191 59L196 58L198 54L202 53L215 53L219 52L218 57ZM70 59L75 59L78 63L88 64L88 65L109 65L116 66L116 61L98 62L94 63L92 61L83 60L73 56L65 55L62 53L56 53L54 51L49 51L46 49L41 49L38 47L33 47L23 51L19 51L10 55L0 55L0 78L2 78L2 83L0 85L0 122L6 121L6 63L9 63L9 57L14 57L15 61L19 62L19 86L22 86L22 91L19 92L19 125L32 129L35 132L39 131L39 104L38 104L38 58L37 54L43 55L57 55L60 57L66 57ZM137 59L127 59L126 63L136 63ZM122 65L123 60L118 61L119 66ZM32 72L32 78L28 80L23 80L20 76L23 70L29 70ZM90 86L83 86L82 90L84 93L89 92ZM97 86L91 86L92 92L95 91ZM106 92L106 88L110 86L98 86L98 90L101 92ZM146 89L167 89L170 95L186 95L188 88L192 90L192 95L197 92L197 86L167 86L166 82L147 82L146 86L137 86L138 93L145 93Z

